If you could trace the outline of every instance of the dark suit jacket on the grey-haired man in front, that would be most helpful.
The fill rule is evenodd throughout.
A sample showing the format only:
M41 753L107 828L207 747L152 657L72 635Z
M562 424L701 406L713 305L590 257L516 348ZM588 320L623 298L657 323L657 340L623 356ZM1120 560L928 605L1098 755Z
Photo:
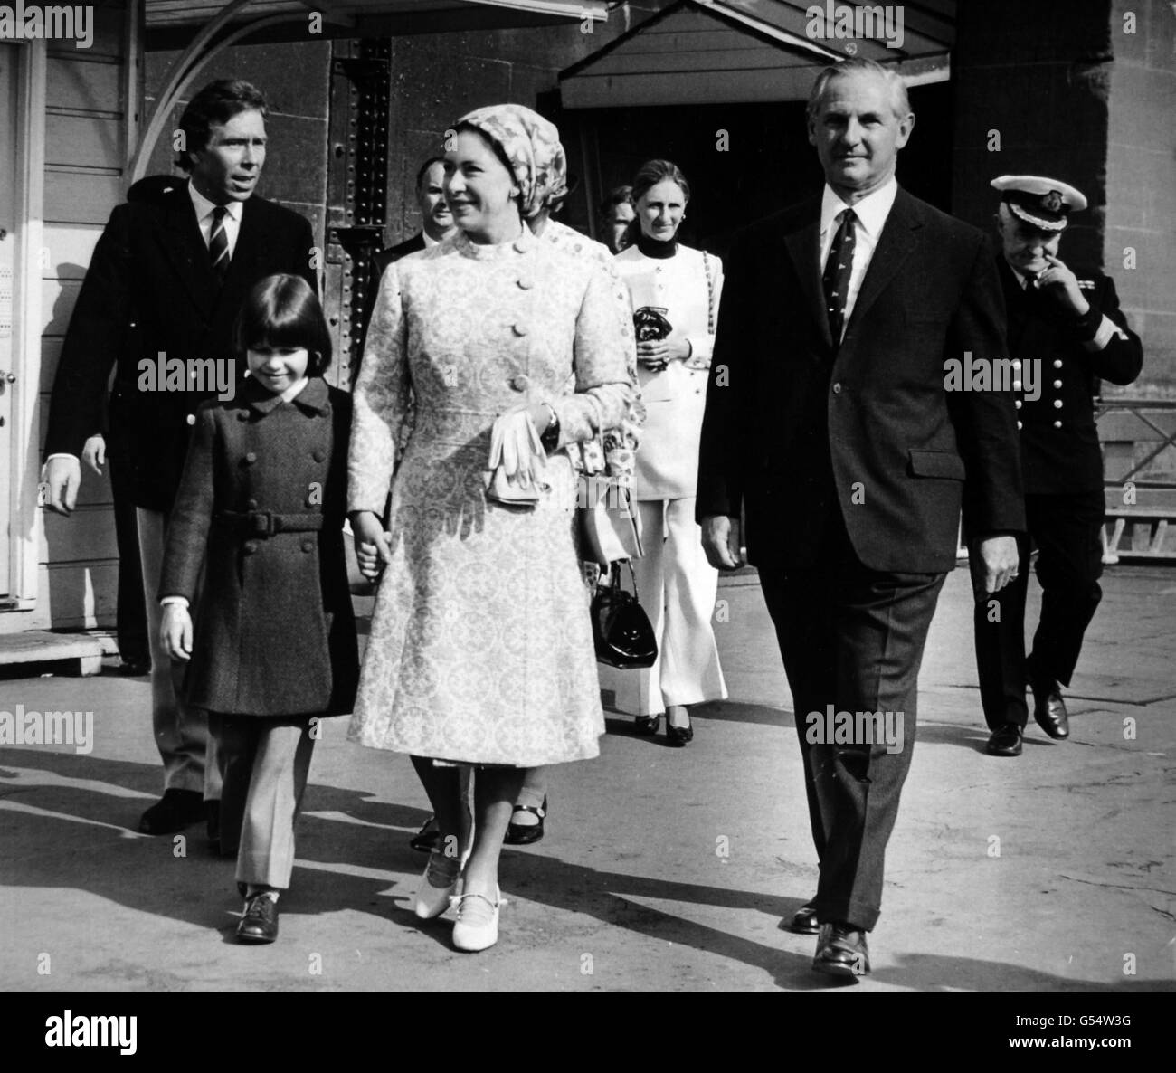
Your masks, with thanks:
M970 532L1024 528L1011 393L944 388L947 358L1007 356L991 249L900 188L835 349L820 214L770 216L727 259L697 518L742 506L749 560L799 568L840 508L867 568L950 571L961 501Z

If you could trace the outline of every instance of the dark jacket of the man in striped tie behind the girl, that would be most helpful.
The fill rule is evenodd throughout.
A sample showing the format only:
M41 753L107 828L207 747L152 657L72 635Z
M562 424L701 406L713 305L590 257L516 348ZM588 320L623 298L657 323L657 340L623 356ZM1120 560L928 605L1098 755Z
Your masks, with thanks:
M245 202L223 285L213 273L186 182L111 213L86 272L66 333L45 454L81 455L102 431L112 366L112 453L129 461L135 506L171 511L192 425L207 392L140 391L142 360L228 359L233 321L253 285L274 273L301 275L318 293L310 267L314 236L295 212L261 198ZM236 387L246 364L236 362Z

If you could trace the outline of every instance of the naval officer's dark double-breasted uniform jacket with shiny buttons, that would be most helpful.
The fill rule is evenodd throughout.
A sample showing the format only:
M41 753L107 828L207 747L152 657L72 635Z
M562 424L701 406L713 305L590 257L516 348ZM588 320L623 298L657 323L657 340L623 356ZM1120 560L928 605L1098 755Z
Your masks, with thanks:
M1025 493L1097 492L1103 468L1094 398L1100 379L1125 385L1140 375L1140 336L1127 326L1110 276L1077 273L1078 287L1090 304L1090 312L1080 320L1053 295L1033 286L1023 288L1003 256L997 256L997 269L1008 308L1009 356L1021 362L1016 401ZM1104 347L1091 349L1085 344L1103 315L1116 333ZM1036 364L1036 385L1024 379L1027 361Z

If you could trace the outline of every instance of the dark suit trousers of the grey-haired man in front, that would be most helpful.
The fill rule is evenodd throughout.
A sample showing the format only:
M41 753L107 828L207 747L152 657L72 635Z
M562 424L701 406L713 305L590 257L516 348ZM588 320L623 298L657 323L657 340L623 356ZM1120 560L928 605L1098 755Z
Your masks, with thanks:
M915 745L918 667L947 575L867 569L836 521L816 564L795 571L760 565L760 580L795 704L821 868L816 913L870 931ZM829 705L835 713L894 712L902 748L810 741L806 717L817 712L823 724Z

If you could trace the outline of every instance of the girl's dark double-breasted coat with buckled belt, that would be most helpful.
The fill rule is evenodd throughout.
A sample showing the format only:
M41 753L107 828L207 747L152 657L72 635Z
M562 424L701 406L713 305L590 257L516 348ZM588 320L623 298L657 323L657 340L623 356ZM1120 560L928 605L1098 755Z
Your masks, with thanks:
M160 598L203 593L188 702L345 714L359 678L343 559L352 399L312 378L290 402L252 378L206 402L167 531Z

